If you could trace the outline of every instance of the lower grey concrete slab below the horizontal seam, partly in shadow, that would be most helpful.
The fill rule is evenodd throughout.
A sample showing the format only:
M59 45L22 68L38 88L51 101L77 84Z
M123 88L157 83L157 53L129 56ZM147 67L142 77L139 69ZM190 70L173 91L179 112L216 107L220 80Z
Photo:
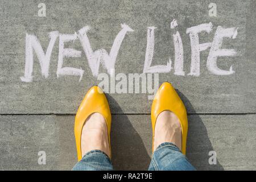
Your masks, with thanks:
M0 169L69 170L76 163L74 116L0 119ZM189 115L188 119L187 157L198 170L255 170L255 115ZM113 115L111 137L115 169L147 169L151 159L150 115ZM39 151L46 152L46 165L38 164ZM216 165L209 165L209 151L216 151Z

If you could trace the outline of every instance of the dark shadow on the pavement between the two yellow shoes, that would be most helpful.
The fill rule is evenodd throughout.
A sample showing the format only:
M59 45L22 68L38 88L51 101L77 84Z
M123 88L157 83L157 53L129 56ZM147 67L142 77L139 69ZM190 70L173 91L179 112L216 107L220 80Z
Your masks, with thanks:
M110 104L123 113L113 97L106 94ZM150 138L151 140L151 138ZM140 135L134 129L126 114L112 115L112 162L115 170L147 170L151 158Z

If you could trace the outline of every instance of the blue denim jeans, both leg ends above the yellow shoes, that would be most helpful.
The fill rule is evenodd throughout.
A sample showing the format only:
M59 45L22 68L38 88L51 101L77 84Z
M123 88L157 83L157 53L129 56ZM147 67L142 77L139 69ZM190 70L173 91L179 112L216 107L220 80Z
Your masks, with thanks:
M104 152L92 150L84 155L73 171L111 171L113 165ZM148 168L149 171L194 171L188 159L172 143L162 143L156 148Z

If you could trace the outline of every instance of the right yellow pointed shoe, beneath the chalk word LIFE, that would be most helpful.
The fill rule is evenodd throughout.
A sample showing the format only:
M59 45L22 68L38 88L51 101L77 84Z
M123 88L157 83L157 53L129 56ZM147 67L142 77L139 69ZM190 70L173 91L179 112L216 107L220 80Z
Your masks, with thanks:
M162 111L169 110L174 113L180 121L182 129L182 148L181 152L185 155L186 153L186 143L187 143L187 133L188 133L188 118L187 111L174 87L169 82L164 82L158 92L155 95L154 101L151 107L151 122L153 130L152 139L152 152L154 152L154 135L155 135L155 123L156 118Z

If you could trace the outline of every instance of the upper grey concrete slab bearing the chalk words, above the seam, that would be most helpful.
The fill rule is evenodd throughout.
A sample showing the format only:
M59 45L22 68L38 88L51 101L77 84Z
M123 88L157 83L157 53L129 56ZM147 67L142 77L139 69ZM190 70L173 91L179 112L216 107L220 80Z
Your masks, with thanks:
M67 47L81 50L82 57L67 58L64 66L84 69L81 82L77 76L56 77L59 39L53 48L49 77L42 77L35 56L34 81L22 82L20 77L24 75L26 33L36 35L46 49L49 32L73 34L89 25L93 49L105 48L109 51L121 30L121 23L126 23L134 32L127 33L122 42L115 73L142 73L149 26L158 27L155 30L152 65L166 64L169 57L174 61L172 34L175 31L170 29L174 18L178 20L177 30L183 40L186 75L175 76L172 70L160 74L159 82L172 82L192 103L196 113L255 113L255 11L251 9L255 1L216 1L216 18L208 15L210 1L45 1L46 17L37 16L38 3L28 0L1 1L0 92L5 97L0 102L0 113L75 114L86 90L100 82L92 76L79 40L67 44ZM201 53L200 76L188 75L191 46L185 31L188 27L209 22L213 23L213 31L209 35L201 34L200 43L212 42L217 26L239 27L237 38L225 39L223 45L225 48L235 48L238 55L222 57L218 61L218 67L222 69L229 69L233 65L236 71L234 75L216 76L209 73L206 68L209 49ZM105 73L106 70L101 67L101 72ZM147 94L112 94L112 97L122 107L121 111L112 105L113 113L150 113L151 102L148 102ZM187 109L188 113L193 113L190 107Z

